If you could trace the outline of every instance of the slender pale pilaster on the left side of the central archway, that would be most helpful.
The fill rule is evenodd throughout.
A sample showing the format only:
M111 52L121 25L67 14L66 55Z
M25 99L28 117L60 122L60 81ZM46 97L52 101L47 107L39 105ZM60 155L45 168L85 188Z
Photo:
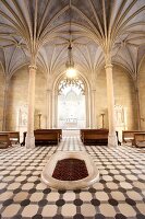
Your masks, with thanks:
M51 90L47 90L47 128L52 128L52 100L51 100Z

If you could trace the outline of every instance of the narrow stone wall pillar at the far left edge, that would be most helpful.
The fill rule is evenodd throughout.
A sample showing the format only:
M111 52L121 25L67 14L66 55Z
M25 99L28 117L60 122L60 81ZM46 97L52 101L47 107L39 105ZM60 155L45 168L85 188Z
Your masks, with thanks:
M7 130L8 95L9 95L9 79L5 78L4 99L3 99L3 122L2 122L3 131Z

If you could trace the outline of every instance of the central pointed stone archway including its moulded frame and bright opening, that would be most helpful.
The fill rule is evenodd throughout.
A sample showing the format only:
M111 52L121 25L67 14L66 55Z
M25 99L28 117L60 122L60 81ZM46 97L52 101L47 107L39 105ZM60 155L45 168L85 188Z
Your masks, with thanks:
M69 80L65 74L53 87L53 127L80 129L90 126L89 85L81 74Z

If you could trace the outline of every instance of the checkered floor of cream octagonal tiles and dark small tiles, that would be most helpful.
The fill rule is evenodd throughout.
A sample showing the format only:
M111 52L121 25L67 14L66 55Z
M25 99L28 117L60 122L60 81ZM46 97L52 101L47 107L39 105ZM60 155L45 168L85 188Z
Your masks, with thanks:
M43 184L41 170L58 150L86 150L99 182L77 191ZM67 135L58 147L0 150L0 218L145 219L145 149L84 147L77 135Z

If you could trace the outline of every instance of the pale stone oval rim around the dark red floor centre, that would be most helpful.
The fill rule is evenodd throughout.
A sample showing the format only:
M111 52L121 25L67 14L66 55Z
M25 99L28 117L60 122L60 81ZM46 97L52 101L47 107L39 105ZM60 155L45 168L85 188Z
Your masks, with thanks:
M88 176L78 181L60 181L52 177L53 170L59 160L73 158L84 160ZM99 180L99 171L89 154L85 151L58 151L56 152L45 165L41 172L41 181L50 187L57 189L78 189L88 187Z

